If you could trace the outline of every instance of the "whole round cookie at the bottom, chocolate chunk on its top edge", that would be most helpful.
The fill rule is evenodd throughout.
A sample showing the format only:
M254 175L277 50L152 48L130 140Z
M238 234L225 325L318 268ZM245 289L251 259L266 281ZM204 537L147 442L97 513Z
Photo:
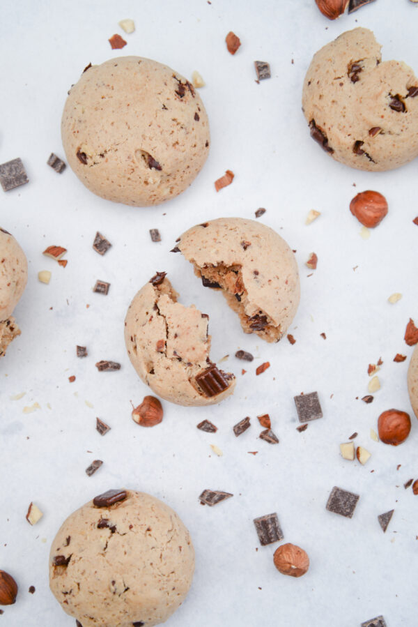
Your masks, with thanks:
M134 490L109 490L72 513L49 555L49 587L82 627L164 623L193 573L194 548L176 512Z

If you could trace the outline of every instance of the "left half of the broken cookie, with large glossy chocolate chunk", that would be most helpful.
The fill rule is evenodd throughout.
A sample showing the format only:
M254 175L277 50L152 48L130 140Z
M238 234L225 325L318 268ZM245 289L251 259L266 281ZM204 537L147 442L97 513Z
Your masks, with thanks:
M213 405L233 393L235 377L210 361L208 315L177 297L164 272L139 290L125 319L127 353L155 394L178 405Z

